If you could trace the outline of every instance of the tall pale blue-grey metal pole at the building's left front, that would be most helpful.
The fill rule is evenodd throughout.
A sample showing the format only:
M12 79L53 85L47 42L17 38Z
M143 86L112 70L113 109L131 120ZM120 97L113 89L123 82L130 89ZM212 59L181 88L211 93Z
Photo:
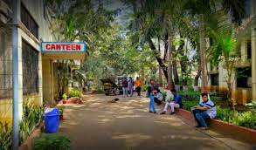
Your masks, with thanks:
M17 47L17 1L13 0L12 26L12 147L18 149L18 47Z

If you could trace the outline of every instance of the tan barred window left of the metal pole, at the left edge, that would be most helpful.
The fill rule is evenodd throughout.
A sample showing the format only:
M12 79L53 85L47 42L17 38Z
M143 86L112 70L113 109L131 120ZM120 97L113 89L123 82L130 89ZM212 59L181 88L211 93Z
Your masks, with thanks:
M10 99L12 92L11 50L7 33L0 30L0 99Z

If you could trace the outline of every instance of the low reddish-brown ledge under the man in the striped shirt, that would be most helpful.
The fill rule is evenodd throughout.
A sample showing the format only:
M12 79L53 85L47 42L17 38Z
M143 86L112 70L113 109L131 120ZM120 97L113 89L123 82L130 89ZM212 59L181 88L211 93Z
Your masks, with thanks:
M182 116L188 121L189 124L193 124L193 118L189 111L183 109L177 109L176 114ZM224 135L230 136L237 140L245 140L246 142L256 143L256 130L246 128L243 126L236 126L231 123L219 119L210 120L210 128L213 131L222 133Z

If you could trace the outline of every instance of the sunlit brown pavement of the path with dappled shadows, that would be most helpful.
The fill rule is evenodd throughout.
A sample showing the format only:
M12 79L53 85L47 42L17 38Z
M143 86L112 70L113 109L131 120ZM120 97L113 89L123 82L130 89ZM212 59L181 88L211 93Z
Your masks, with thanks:
M120 101L107 103L115 98ZM148 106L145 97L86 95L83 104L67 106L60 132L70 137L74 150L252 149L220 134L198 131L180 116L148 113Z

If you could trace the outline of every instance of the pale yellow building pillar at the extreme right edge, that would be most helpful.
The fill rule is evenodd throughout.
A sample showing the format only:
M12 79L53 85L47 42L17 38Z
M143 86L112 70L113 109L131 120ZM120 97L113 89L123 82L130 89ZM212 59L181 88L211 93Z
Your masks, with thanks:
M252 27L252 99L256 100L256 26Z

